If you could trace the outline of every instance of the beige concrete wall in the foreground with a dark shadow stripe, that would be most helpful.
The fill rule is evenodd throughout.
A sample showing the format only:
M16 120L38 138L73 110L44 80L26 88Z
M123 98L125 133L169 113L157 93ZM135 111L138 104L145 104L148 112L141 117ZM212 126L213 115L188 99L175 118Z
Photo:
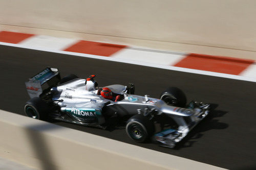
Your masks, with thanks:
M0 110L0 157L39 169L219 169Z

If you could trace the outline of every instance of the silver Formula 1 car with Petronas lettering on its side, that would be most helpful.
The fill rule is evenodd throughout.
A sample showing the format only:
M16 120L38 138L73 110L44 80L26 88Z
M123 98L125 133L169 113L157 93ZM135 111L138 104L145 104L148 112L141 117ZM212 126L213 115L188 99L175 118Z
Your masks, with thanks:
M106 87L116 100L105 99L94 78L69 75L61 79L58 69L47 67L26 82L31 99L25 104L25 113L36 119L52 118L102 129L110 126L113 118L120 118L126 120L125 130L131 139L154 139L163 147L174 148L209 112L209 104L192 101L186 107L186 96L176 87L167 88L160 99L154 99L135 95L132 83L115 84ZM155 133L155 125L160 125L160 132Z

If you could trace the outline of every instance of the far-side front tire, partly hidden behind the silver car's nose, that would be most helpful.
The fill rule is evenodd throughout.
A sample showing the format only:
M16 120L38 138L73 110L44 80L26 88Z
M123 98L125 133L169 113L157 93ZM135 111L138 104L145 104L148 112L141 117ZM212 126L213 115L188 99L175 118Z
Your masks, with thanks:
M185 93L177 87L169 87L164 90L160 99L163 100L167 105L185 107L187 103Z

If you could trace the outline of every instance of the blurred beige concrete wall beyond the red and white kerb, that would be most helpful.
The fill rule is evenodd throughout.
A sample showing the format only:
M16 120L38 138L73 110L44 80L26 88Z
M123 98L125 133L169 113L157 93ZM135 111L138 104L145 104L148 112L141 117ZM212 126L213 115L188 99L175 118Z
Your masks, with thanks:
M136 39L156 41L160 48L181 43L255 52L255 6L253 0L2 0L0 29L21 26L87 34L90 40L95 40L90 35L101 41L118 37L123 44Z

